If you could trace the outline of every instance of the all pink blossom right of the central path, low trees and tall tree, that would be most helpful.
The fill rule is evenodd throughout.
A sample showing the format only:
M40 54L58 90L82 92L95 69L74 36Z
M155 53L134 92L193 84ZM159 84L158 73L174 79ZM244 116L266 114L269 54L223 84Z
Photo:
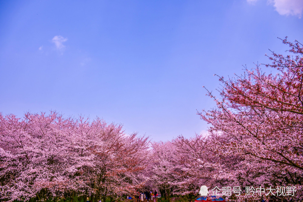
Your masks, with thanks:
M167 193L198 196L201 185L242 187L227 199L303 200L303 45L289 42L290 55L272 52L276 74L261 65L225 79L216 108L199 112L208 135L153 144L151 178ZM219 97L219 98L218 98ZM294 194L245 194L243 187L296 187ZM236 196L239 195L239 196Z

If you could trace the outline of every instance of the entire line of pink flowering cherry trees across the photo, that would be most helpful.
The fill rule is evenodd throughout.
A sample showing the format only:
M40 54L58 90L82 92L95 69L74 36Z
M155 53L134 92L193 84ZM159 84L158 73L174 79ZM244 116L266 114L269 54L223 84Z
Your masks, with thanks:
M303 45L272 51L265 65L219 80L216 107L198 112L208 135L166 142L125 135L102 119L63 118L56 112L0 116L0 195L3 201L67 198L111 200L142 187L161 195L197 197L201 185L241 187L238 201L303 200ZM152 158L153 161L146 161ZM247 194L261 187L270 194ZM277 194L276 187L295 187ZM236 196L237 195L237 196Z

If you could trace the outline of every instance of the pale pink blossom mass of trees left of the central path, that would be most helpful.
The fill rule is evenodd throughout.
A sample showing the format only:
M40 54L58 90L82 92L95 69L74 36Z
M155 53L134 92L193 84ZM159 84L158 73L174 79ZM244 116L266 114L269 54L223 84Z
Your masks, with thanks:
M96 118L0 115L0 199L100 200L143 186L148 138Z

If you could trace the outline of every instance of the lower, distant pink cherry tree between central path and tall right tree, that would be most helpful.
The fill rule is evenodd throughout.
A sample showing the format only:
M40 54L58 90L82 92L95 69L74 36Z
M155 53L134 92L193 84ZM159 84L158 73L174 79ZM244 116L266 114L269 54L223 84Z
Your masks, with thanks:
M157 160L151 179L162 195L166 192L168 196L186 195L191 199L198 195L201 184L211 185L215 181L217 164L210 154L207 139L199 135L154 143L153 155Z

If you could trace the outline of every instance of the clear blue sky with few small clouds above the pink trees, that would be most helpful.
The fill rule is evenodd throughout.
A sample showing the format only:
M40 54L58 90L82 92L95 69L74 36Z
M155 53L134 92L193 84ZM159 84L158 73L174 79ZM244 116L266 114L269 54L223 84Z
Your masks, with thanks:
M283 53L277 37L302 43L302 11L301 0L0 1L0 111L99 116L155 141L205 133L196 113L215 103L202 86Z

